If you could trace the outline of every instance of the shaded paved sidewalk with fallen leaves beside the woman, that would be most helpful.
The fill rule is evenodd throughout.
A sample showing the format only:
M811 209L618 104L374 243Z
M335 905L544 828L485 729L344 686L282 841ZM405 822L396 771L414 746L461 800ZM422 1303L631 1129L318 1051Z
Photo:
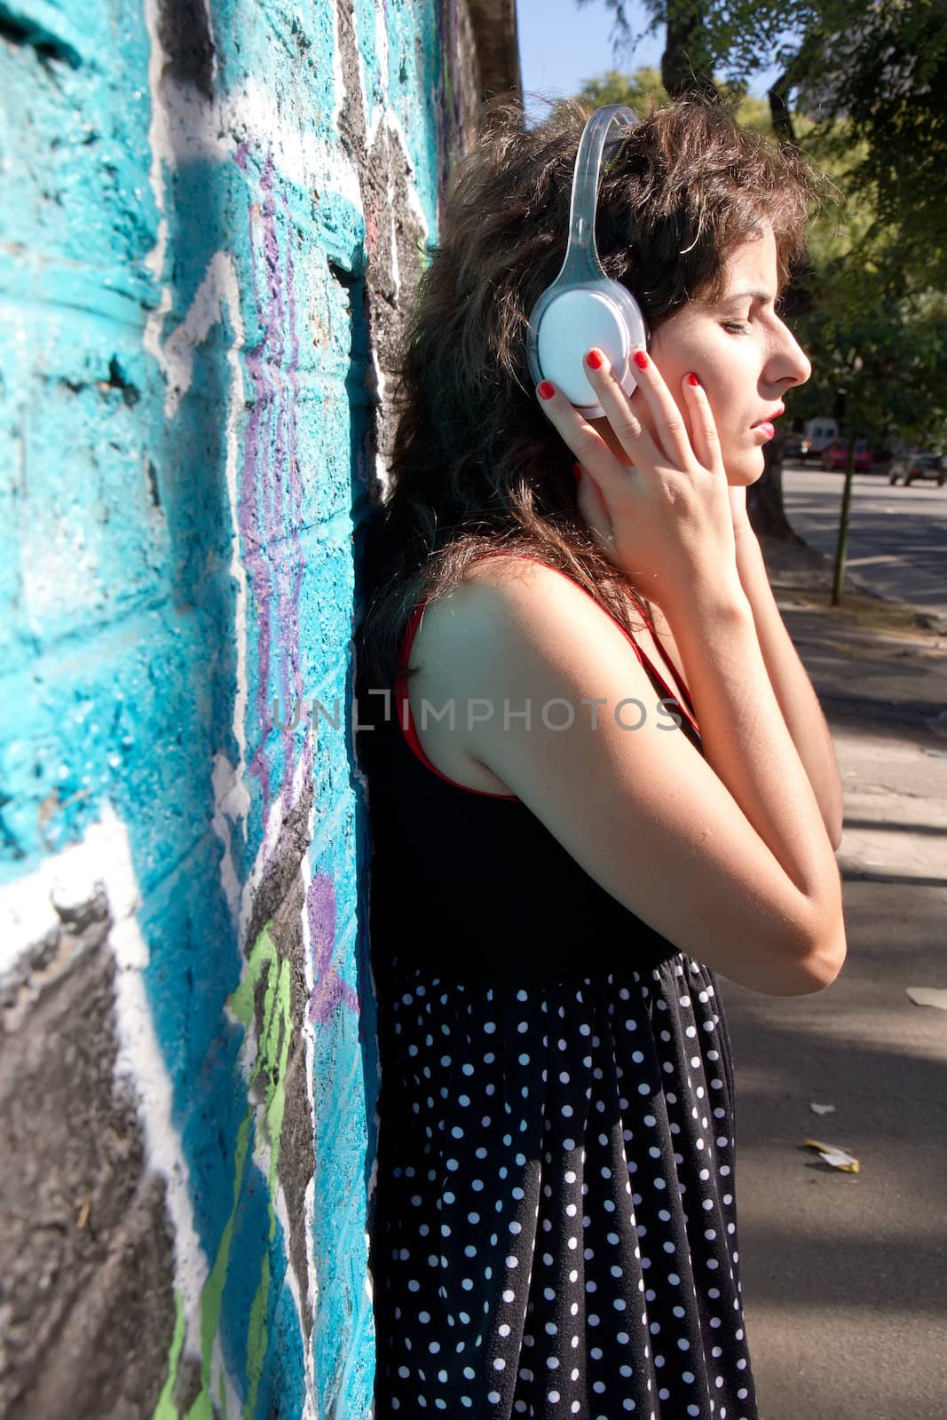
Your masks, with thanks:
M831 561L808 547L764 554L845 785L848 960L816 995L723 983L760 1416L941 1420L947 1011L904 988L947 987L947 635L872 595L829 606Z

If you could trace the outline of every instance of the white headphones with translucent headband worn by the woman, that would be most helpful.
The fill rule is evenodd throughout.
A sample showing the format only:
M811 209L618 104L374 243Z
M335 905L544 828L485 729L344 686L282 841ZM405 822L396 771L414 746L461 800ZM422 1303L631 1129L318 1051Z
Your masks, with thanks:
M595 244L595 209L606 136L612 124L633 128L640 119L622 104L598 108L582 131L572 175L569 241L565 261L530 314L527 359L532 383L551 381L586 419L605 410L585 373L584 356L598 345L609 358L626 395L636 386L632 351L647 344L647 327L632 293L609 281ZM611 139L609 146L622 142Z

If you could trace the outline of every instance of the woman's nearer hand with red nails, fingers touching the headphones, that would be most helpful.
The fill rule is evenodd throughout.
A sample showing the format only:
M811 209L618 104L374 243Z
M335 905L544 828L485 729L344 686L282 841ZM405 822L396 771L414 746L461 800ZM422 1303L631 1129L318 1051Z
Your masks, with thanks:
M588 379L628 454L609 449L561 390L540 386L541 405L579 460L588 479L578 487L578 507L596 542L646 596L664 606L694 582L716 579L740 592L735 569L734 513L720 440L704 389L696 376L681 381L684 415L660 371L643 352L635 355L637 390L647 410L636 416L601 351L591 351ZM549 398L542 398L551 390ZM693 439L693 442L691 442Z

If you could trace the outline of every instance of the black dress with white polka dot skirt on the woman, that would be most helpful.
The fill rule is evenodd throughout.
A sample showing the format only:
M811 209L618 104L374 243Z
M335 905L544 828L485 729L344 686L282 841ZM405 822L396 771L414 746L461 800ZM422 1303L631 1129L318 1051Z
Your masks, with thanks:
M375 1420L758 1420L718 983L409 720L368 775Z

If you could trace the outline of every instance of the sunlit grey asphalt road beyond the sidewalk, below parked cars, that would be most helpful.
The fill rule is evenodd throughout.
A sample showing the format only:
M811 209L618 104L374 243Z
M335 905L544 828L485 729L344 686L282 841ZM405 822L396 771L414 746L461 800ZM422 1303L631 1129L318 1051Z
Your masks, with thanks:
M789 523L814 548L835 557L845 479L788 463L782 470ZM887 474L856 473L846 575L907 602L947 630L947 484L889 486Z

